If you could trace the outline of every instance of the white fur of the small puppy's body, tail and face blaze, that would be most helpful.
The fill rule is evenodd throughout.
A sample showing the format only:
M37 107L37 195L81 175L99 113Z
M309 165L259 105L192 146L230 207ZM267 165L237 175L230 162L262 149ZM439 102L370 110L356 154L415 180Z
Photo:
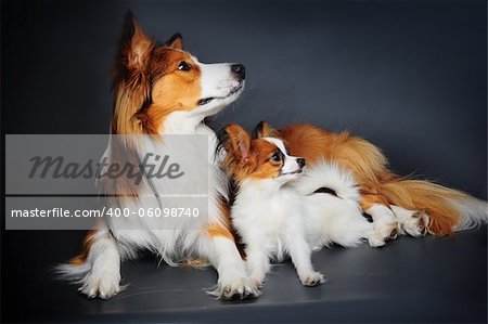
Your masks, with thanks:
M264 139L285 156L281 174L299 170L297 158L286 154L281 140ZM338 197L314 193L324 186ZM361 215L359 197L351 174L330 163L317 164L301 178L243 180L232 207L232 221L246 245L251 278L261 285L270 270L269 260L281 261L290 255L304 285L322 283L322 275L311 265L312 249L331 243L355 246L373 234L373 225Z

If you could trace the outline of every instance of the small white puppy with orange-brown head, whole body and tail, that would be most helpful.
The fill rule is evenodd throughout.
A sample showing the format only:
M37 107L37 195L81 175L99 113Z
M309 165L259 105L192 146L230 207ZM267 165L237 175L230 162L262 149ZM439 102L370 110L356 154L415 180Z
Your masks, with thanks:
M219 142L226 151L222 166L236 185L232 224L245 245L247 271L257 286L262 285L270 260L285 256L304 285L319 285L324 276L313 270L312 249L331 242L354 246L372 235L373 225L361 216L351 176L335 165L323 164L309 173L330 178L332 189L324 187L298 180L306 161L290 156L279 139L253 139L240 126L230 125L220 132ZM322 204L308 204L309 199Z

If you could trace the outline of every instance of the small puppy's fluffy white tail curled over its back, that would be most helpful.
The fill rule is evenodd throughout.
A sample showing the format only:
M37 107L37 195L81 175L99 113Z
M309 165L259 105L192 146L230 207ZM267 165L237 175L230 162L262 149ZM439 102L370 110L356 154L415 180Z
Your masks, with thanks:
M296 187L304 195L328 193L343 199L359 202L360 193L351 172L335 161L319 161L307 168Z

